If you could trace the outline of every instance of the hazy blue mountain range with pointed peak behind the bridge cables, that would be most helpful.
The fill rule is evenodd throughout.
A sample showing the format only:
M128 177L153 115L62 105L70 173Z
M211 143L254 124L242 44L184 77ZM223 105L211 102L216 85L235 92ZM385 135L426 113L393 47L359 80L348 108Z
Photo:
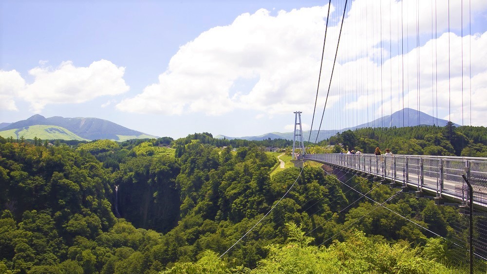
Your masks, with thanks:
M318 135L318 130L313 130L310 132L309 130L303 131L303 139L307 141L308 139L312 142L317 140L318 142L324 139L327 139L331 136L336 135L338 132L344 132L346 130L354 130L357 128L365 128L365 127L404 127L404 126L416 126L416 125L437 125L437 126L445 126L448 123L447 120L444 119L437 119L428 115L424 112L417 111L411 108L404 108L400 111L394 112L392 115L387 115L384 117L380 117L375 119L374 121L364 123L361 125L357 125L355 127L350 128L342 128L342 129L334 129L334 130L321 130ZM455 124L455 126L459 126ZM311 134L311 137L310 137ZM244 139L244 140L264 140L264 139L288 139L292 140L294 137L294 132L271 132L266 133L260 136L245 136L245 137L228 137L224 135L217 135L215 138L226 138L226 139Z

